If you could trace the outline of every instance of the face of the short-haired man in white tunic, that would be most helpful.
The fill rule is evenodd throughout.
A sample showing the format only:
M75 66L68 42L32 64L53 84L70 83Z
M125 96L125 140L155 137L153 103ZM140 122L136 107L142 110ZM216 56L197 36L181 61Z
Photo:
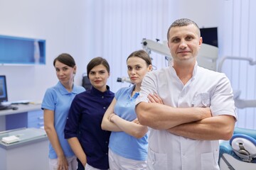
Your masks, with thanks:
M168 46L171 56L176 62L196 61L198 50L202 44L199 30L193 24L176 26L169 31Z

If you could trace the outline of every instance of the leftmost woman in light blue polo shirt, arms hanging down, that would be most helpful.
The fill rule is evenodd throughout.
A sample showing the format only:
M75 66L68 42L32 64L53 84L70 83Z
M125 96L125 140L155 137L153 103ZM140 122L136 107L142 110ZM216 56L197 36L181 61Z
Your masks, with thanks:
M85 89L74 84L76 72L75 60L71 55L61 54L53 61L58 84L47 89L43 98L43 120L49 144L50 170L75 170L77 161L68 141L64 138L65 121L71 101L76 94Z

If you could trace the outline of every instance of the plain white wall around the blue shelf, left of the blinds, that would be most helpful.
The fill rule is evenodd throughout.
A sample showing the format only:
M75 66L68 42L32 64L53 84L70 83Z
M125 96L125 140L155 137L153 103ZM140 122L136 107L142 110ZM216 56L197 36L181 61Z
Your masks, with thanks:
M87 30L85 1L0 0L0 34L46 40L46 65L0 66L7 78L9 101L41 101L54 86L53 59L62 52L73 55L78 65L75 83L86 70Z

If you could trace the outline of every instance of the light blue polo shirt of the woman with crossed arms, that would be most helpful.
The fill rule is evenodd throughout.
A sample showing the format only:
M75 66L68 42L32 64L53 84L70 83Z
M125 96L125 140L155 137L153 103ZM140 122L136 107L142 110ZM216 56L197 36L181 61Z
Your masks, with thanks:
M132 95L134 86L119 89L115 94L117 103L114 106L114 113L124 120L132 121L137 118L135 113L135 100L139 92ZM115 154L127 159L146 161L148 136L137 139L126 132L112 132L110 135L110 149Z

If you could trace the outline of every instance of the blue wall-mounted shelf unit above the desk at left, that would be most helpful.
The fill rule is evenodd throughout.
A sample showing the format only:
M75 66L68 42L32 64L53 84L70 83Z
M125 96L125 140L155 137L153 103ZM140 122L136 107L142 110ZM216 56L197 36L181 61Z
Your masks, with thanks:
M46 64L46 40L0 35L0 64Z

